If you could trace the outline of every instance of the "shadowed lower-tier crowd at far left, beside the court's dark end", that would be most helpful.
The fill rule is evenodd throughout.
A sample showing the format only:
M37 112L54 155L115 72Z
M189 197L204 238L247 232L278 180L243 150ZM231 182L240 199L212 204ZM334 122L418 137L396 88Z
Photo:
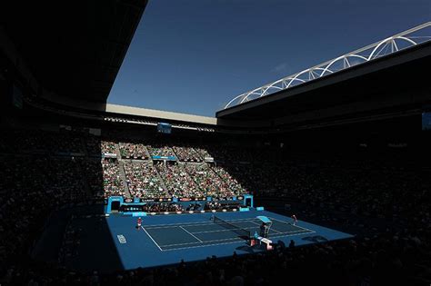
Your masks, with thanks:
M0 156L0 271L19 260L57 207L85 202L80 164L71 157Z

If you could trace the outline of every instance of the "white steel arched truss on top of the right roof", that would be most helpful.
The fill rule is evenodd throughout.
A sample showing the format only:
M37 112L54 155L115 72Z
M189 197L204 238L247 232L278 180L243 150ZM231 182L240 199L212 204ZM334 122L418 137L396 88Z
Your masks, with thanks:
M334 74L353 65L366 63L387 54L396 53L397 51L403 50L407 47L425 43L429 40L431 40L431 22L426 22L399 34L387 37L386 39L381 40L375 44L369 44L351 53L338 56L335 59L327 61L323 64L317 64L299 73L288 75L274 83L257 87L256 89L244 94L239 94L229 103L227 103L224 109L237 104L244 104L250 100L273 94L298 84L304 84L306 82L313 81L316 78L325 76L327 74ZM398 44L396 44L396 41L398 41L398 44L404 42L406 46L400 47ZM349 59L352 62L350 62ZM353 60L356 60L356 63L352 64ZM336 68L336 64L340 61L342 61L342 65Z

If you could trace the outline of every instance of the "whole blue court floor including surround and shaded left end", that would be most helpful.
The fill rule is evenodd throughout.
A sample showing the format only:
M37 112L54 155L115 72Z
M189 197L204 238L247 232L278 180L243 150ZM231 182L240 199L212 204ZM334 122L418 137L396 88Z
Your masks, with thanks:
M256 211L217 212L216 216L243 231L233 231L224 224L211 221L213 213L183 213L144 216L140 229L136 217L114 214L104 218L75 219L81 230L79 253L70 264L79 269L98 270L135 269L184 261L201 261L207 257L231 256L264 251L247 243L244 231L251 236L259 233L261 222L257 216L266 216L272 222L269 239L274 243L292 240L296 246L323 241L346 239L352 235L337 232L313 223L299 220L296 225L284 215ZM300 218L299 218L300 219ZM99 225L99 226L97 226Z

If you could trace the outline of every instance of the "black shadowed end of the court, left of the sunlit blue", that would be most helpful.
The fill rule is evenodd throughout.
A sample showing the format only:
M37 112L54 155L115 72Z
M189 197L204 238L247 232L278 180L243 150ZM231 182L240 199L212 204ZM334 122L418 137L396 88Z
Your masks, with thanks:
M80 271L124 270L106 222L104 206L55 212L32 253L37 261Z

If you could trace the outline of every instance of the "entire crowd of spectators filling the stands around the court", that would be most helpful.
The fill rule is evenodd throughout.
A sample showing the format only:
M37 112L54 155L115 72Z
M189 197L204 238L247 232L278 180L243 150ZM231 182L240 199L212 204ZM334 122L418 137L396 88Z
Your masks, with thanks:
M385 225L376 227L372 235L358 233L356 238L344 242L290 248L278 243L276 251L180 262L153 270L100 274L34 263L25 252L56 207L88 200L97 190L100 195L101 187L106 197L124 195L125 189L118 160L43 155L40 148L45 148L44 152L48 148L43 146L42 139L19 136L23 138L16 146L22 152L9 153L13 145L0 140L3 142L0 148L8 152L0 155L0 233L2 237L13 238L3 240L0 245L2 285L274 285L286 279L306 285L428 285L431 281L429 167L380 157L317 160L307 156L299 158L300 162L239 163L253 157L247 158L238 151L240 148L236 152L226 149L218 153L212 152L215 147L203 147L200 151L193 148L199 154L207 150L216 160L222 154L226 163L217 166L160 162L153 167L147 163L125 163L129 190L138 197L202 197L208 193L231 196L252 190L256 197L272 197L275 201L285 198L291 203L305 204L309 212L348 212L366 219L381 219ZM85 148L89 152L92 147L85 146L93 144L85 144L85 138L55 133L46 135L45 141L49 141L47 145L53 147L53 153L82 153ZM166 146L151 150L165 155L165 150L171 150ZM110 147L102 143L102 150L105 148ZM147 192L150 182L157 185L153 180L158 175L163 182L159 182L159 188ZM163 183L167 190L160 189ZM205 204L205 209L220 207L223 205L217 201ZM146 208L148 212L184 211L173 202L151 203ZM374 221L368 223L368 229L374 228L371 225ZM338 227L342 230L345 226L340 223ZM74 242L78 237L79 233L65 233L65 241ZM74 255L74 248L64 245L61 261L70 255Z

